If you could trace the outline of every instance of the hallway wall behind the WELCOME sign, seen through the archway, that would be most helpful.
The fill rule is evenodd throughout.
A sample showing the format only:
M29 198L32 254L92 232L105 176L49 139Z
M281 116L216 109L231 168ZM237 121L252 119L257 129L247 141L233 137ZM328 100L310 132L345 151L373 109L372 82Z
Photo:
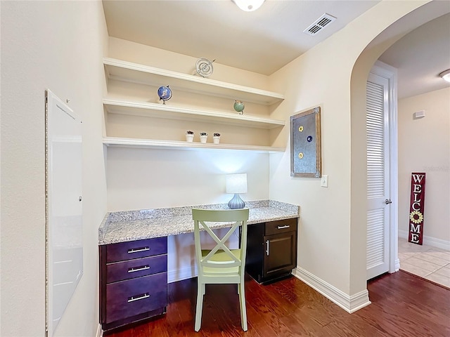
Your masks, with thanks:
M425 117L413 114L425 110ZM399 234L409 231L411 172L425 172L424 244L450 247L450 88L399 100Z

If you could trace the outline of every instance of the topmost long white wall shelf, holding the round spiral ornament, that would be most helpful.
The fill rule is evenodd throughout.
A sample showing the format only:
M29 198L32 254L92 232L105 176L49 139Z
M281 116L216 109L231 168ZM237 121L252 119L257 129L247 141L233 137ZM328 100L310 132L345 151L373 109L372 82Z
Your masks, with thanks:
M281 93L240 86L215 79L206 79L181 72L172 72L171 70L139 65L114 58L104 58L103 64L105 65L108 78L120 81L153 84L156 86L169 85L173 88L182 88L197 93L217 95L263 105L272 105L284 100L284 95Z

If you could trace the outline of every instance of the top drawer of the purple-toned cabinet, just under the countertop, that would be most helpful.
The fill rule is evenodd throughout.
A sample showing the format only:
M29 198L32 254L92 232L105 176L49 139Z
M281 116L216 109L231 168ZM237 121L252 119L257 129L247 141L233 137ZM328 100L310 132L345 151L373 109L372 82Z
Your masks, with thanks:
M106 262L145 258L146 256L165 253L167 253L167 237L120 242L119 244L108 244L106 248Z

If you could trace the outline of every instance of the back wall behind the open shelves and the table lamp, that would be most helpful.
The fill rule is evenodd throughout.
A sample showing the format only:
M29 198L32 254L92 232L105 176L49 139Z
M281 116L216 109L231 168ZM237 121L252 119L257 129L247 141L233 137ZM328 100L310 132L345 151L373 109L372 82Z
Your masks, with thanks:
M140 62L152 67L162 67L182 73L193 73L195 60L191 56L164 51L162 49L136 44L121 39L110 38L108 57ZM236 68L214 63L214 79L231 81L239 79L239 84L269 88L268 77ZM167 84L169 85L169 83ZM210 105L210 108L232 109L233 100L210 100L205 95L185 93L172 89L173 97L170 105ZM142 92L141 92L142 91ZM158 88L150 86L132 86L127 83L110 81L108 96L134 99L139 101L155 100L153 97ZM134 95L134 97L130 97ZM249 107L250 114L257 114L255 105ZM246 106L247 109L247 106ZM262 107L258 112L267 114L268 108ZM173 133L169 139L185 140L187 129L200 130L210 135L221 133L221 142L233 143L233 139L247 138L248 129L238 126L215 124L213 127L198 121L171 120L169 126L158 124L160 121L148 117L120 116L111 114L107 117L107 136L131 138L165 139L167 133ZM239 130L242 135L230 136ZM150 132L152 131L152 132ZM158 135L158 132L160 133ZM263 133L268 131L252 131ZM255 134L253 134L255 136ZM177 138L178 137L178 138ZM227 139L229 139L227 141ZM243 140L245 143L245 140ZM269 145L269 144L268 144ZM129 209L149 209L158 207L188 206L195 204L214 204L228 202L231 199L225 192L225 175L227 173L248 173L248 193L244 200L269 198L269 154L248 151L186 151L186 150L154 150L108 148L107 160L108 211L124 211Z

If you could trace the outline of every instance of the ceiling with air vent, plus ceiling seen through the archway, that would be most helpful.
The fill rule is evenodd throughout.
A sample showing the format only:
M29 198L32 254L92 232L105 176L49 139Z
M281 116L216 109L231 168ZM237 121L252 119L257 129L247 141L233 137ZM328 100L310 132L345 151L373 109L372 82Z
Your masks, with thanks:
M269 75L378 2L266 0L244 12L231 0L103 0L103 8L110 37ZM324 13L336 20L314 36L303 32ZM437 77L450 68L450 14L413 30L380 60L398 69L399 98L450 86Z

